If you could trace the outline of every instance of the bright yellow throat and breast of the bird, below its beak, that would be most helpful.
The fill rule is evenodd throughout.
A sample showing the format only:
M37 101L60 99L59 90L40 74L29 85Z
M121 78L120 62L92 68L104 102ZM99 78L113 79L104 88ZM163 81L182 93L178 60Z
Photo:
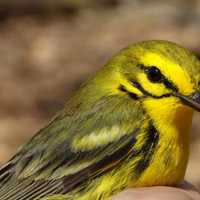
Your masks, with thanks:
M146 100L144 107L158 131L159 141L149 167L133 186L178 184L187 167L193 112L173 97Z

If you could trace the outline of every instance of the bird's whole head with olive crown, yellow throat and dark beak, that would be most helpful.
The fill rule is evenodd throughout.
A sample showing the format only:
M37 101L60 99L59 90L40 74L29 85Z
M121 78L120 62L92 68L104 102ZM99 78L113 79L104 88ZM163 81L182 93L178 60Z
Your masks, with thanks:
M193 109L200 111L200 62L174 43L146 41L129 46L103 71L108 78L105 88L129 95L152 118L165 119L162 123L175 120L177 113L178 120L185 121Z

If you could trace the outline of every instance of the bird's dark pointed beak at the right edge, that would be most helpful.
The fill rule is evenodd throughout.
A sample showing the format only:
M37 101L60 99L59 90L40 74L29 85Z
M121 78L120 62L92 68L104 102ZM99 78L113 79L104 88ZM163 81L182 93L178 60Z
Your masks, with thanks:
M189 96L184 96L179 93L176 93L175 96L185 104L200 112L200 92L195 92Z

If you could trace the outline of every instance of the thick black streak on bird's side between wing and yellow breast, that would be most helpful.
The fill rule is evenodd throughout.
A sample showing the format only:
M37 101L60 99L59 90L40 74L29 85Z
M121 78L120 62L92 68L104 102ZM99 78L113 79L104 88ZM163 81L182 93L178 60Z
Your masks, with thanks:
M139 152L141 160L139 160L136 165L136 176L139 176L149 166L155 147L158 143L158 138L159 135L157 130L151 123L147 131L146 142Z

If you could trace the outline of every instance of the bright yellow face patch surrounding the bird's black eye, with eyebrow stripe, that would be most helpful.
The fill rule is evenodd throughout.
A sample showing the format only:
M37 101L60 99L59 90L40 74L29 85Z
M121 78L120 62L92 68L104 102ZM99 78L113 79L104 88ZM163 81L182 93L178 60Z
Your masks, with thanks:
M177 63L162 55L147 53L140 58L144 73L137 80L152 95L162 96L178 90L183 95L194 92L194 83L189 74Z

